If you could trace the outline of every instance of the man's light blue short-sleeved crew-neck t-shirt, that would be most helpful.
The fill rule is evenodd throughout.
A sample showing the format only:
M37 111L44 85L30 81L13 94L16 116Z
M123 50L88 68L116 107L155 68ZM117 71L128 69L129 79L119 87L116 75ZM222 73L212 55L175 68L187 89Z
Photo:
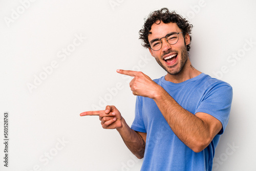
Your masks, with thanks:
M227 126L232 87L224 81L203 73L181 83L166 81L164 76L154 81L164 88L182 108L192 114L204 112L214 116L221 121L223 127L202 152L195 153L170 129L155 101L138 96L135 119L131 128L147 133L141 170L210 171L215 148Z

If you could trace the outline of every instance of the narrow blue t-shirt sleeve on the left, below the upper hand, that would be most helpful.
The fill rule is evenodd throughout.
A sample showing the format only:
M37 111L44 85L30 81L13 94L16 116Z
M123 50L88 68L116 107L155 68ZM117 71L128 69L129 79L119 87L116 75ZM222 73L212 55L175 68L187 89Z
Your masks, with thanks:
M142 104L139 97L140 96L137 96L136 98L135 118L131 126L131 129L133 129L134 131L146 133L146 129L143 121L143 115L142 115Z

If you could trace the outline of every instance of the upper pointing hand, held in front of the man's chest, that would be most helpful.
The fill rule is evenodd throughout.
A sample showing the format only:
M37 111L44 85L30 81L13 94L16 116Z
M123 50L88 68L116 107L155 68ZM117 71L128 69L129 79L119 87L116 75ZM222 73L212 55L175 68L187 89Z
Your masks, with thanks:
M134 77L130 82L130 88L136 96L144 96L154 99L161 88L155 81L142 72L130 70L117 70L118 73Z

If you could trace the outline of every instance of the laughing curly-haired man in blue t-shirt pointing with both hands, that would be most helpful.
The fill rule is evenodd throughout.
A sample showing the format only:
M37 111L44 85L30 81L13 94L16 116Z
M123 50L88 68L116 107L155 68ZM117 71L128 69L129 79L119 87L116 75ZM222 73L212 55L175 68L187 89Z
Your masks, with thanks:
M99 115L104 129L116 129L139 159L141 170L211 170L215 148L228 122L232 88L196 70L188 58L192 25L175 12L154 11L140 30L148 48L167 74L152 80L142 72L117 70L134 77L136 100L131 128L115 106Z

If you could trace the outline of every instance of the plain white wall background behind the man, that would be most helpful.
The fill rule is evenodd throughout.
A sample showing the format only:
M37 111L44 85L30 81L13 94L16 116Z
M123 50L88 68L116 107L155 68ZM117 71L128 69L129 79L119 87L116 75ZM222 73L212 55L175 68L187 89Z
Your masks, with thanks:
M255 1L37 0L26 8L22 2L0 2L0 137L9 112L10 138L8 168L0 143L0 170L139 170L142 160L132 157L116 130L79 114L113 104L131 125L136 97L116 69L165 75L138 39L144 17L163 7L194 25L193 66L233 87L213 170L256 170ZM76 36L86 39L74 46ZM72 52L63 58L67 48ZM44 80L29 90L39 76Z

